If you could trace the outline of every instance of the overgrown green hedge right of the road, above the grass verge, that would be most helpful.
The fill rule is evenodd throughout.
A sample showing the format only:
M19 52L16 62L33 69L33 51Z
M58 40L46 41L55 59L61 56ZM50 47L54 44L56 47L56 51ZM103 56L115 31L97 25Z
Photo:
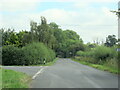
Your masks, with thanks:
M116 51L116 47L97 46L89 51L78 51L76 56L84 57L85 61L100 63L113 58L117 60L118 52Z

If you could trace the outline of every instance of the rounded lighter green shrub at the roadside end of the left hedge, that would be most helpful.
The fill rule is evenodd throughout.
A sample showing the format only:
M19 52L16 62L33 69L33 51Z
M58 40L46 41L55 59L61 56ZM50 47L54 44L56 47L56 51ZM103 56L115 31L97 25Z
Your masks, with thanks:
M26 65L43 64L44 60L50 62L55 58L55 53L43 43L32 43L23 47Z

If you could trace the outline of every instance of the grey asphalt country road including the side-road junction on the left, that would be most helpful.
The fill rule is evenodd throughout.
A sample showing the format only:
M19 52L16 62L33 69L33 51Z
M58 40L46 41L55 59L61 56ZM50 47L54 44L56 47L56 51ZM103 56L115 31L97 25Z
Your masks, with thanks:
M31 88L118 88L118 76L59 59L53 66L4 66L33 77Z

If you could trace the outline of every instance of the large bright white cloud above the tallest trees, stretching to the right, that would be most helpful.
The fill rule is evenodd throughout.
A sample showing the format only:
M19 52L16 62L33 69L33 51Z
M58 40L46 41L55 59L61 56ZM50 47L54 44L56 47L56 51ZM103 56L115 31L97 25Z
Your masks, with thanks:
M95 9L95 8L93 8ZM45 16L49 22L56 22L63 29L76 31L84 41L93 41L98 38L105 39L109 34L117 34L117 16L109 12L109 8L102 7L99 11L91 13L66 11L64 9L48 9L33 14L29 18L40 22L40 16Z

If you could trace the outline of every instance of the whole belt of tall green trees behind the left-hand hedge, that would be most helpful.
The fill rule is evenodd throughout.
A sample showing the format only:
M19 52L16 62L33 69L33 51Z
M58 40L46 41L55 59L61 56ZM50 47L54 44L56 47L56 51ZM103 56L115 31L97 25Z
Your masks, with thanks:
M41 17L41 24L30 22L30 31L14 32L8 29L3 32L3 46L14 45L24 47L33 42L42 42L53 49L57 56L72 57L78 50L84 50L80 36L72 30L62 30L52 22L47 24L45 17Z

